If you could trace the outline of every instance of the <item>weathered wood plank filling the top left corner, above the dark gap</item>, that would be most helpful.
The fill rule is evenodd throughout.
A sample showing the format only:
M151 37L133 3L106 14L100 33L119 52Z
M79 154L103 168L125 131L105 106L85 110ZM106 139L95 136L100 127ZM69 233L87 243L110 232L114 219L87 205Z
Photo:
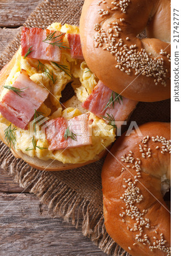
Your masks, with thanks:
M41 0L1 0L0 27L19 27Z

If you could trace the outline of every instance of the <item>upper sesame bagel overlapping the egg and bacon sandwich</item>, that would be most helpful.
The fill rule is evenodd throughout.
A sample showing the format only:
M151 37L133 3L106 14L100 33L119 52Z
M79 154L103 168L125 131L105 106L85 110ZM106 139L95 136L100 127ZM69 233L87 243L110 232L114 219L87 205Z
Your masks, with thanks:
M151 38L137 35L146 28ZM83 56L110 89L136 101L170 98L170 0L85 0Z

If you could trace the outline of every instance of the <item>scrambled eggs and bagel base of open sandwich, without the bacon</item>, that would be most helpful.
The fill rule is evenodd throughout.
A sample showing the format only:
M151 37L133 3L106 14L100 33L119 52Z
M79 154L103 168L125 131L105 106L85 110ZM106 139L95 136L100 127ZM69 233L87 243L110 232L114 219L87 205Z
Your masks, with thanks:
M66 72L60 71L59 68L54 67L50 61L43 62L43 60L41 60L41 62L45 63L46 67L49 68L49 71L52 71L54 76L57 76L56 82L53 83L43 71L37 70L36 59L29 57L23 59L23 56L21 56L21 48L19 48L11 61L1 70L0 102L2 102L3 96L5 96L7 92L10 92L10 90L7 90L3 86L14 84L19 74L24 72L22 69L24 69L30 79L39 85L40 88L44 86L50 91L47 100L43 102L38 110L40 113L43 113L45 117L50 119L50 121L59 117L64 117L69 120L81 114L89 114L92 129L92 144L83 144L75 148L66 148L65 150L49 150L49 142L47 139L37 138L37 145L40 148L34 148L32 141L33 131L30 129L30 124L28 124L27 129L21 129L19 126L16 126L6 119L2 113L0 113L0 139L10 147L10 143L5 139L5 130L9 125L12 125L12 129L15 129L14 134L16 141L14 144L11 144L11 152L16 158L23 159L30 164L30 166L39 170L62 171L81 167L102 158L106 154L106 151L101 143L105 144L106 147L110 147L111 143L115 141L116 134L113 129L110 130L111 126L106 125L103 119L96 117L96 115L87 112L87 110L81 107L82 102L86 100L98 83L98 79L89 71L85 60L81 58L73 59L70 55L68 34L79 34L79 28L70 26L69 24L61 26L60 23L53 23L49 26L49 29L65 33L64 43L67 48L62 49L60 64L66 65L66 67L69 68L71 77ZM71 98L69 97L69 87L66 87L70 82L72 85L71 89L74 93L74 96ZM66 90L65 93L63 93L64 89ZM67 98L69 98L69 100L64 99L64 94L68 95ZM32 98L34 97L32 96ZM60 104L60 98L61 102L63 102L62 104ZM21 98L19 97L17 100L19 99ZM104 132L100 130L102 127L96 125L96 122L100 122L101 125L106 125ZM40 128L41 127L37 127L37 136L39 135L39 131L41 132ZM104 134L105 132L107 132L107 137ZM99 133L99 135L96 135L96 133Z

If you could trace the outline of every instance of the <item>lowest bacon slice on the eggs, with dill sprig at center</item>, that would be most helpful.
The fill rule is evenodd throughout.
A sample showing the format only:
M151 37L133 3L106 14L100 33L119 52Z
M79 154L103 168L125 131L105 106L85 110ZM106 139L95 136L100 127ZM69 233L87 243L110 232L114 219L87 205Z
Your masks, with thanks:
M68 137L64 138L66 129L74 133L75 141ZM78 115L66 120L63 117L50 120L45 130L46 138L49 142L49 150L60 150L63 148L80 147L92 143L89 130L89 114Z

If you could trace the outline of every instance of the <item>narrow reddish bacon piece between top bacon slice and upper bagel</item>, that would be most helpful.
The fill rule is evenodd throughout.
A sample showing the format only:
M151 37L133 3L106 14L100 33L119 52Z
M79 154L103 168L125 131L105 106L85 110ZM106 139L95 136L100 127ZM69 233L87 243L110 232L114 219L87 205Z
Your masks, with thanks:
M81 39L79 34L68 34L70 53L73 59L83 60Z

